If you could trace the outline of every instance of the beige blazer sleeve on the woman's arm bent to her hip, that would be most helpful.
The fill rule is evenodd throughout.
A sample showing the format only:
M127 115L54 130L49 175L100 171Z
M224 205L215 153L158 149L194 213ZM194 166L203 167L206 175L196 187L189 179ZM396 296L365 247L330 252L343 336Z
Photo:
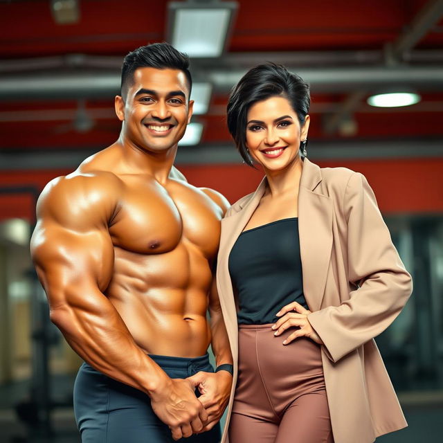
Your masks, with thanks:
M356 289L341 305L308 316L334 362L381 334L412 292L410 275L362 174L354 172L350 177L343 212L347 219L348 278Z

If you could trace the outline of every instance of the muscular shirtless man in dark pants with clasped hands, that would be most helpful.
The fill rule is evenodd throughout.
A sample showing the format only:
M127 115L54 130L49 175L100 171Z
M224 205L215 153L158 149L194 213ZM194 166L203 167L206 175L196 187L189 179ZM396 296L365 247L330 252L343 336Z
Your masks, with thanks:
M228 203L172 166L190 89L188 58L169 44L129 53L118 141L37 204L31 252L51 320L86 362L74 387L83 443L219 441L232 357L211 271Z

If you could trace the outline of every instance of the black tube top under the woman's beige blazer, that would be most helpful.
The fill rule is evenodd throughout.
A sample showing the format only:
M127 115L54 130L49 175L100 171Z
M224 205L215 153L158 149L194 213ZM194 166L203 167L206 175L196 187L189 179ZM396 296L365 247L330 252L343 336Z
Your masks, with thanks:
M303 295L298 219L273 221L239 235L229 255L230 278L238 292L239 324L274 323L278 311Z

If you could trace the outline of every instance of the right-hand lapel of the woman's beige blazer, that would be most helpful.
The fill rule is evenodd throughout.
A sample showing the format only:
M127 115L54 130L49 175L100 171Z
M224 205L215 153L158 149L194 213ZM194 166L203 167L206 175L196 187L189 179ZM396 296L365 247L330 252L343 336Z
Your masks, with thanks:
M320 168L305 159L298 193L298 231L303 291L311 311L321 307L332 251L334 204L327 195L314 192L321 180Z

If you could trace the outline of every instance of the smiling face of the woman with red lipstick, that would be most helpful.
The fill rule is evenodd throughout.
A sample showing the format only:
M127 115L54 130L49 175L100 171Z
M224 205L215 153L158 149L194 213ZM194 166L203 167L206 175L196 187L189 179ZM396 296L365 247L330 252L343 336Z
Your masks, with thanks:
M287 98L275 96L254 103L246 121L246 146L265 171L284 170L298 158L300 141L307 138L309 116L300 126Z

